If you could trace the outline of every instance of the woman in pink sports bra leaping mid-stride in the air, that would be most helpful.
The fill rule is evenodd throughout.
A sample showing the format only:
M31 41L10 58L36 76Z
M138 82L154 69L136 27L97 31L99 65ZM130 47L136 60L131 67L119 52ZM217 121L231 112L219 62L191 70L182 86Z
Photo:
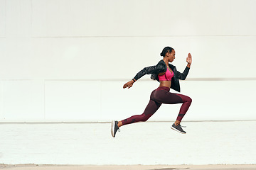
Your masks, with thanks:
M174 89L175 91L180 92L180 86L178 79L186 79L188 75L188 71L191 67L192 57L191 54L188 54L186 58L186 62L188 62L186 69L183 73L180 73L176 70L176 67L169 62L173 62L175 59L175 50L172 47L164 47L163 51L160 54L164 57L158 64L151 67L145 67L140 72L136 74L134 79L128 81L124 84L123 88L128 89L132 87L135 81L139 78L143 77L145 74L151 74L151 79L157 80L160 82L160 85L157 89L152 91L150 96L149 104L146 106L146 109L142 115L133 115L130 118L124 119L122 121L112 121L111 125L111 134L112 137L115 137L117 130L122 125L127 125L130 123L137 123L141 121L148 120L151 115L153 115L161 106L162 103L164 104L176 104L182 103L181 109L178 113L178 117L175 123L171 126L173 130L181 132L185 134L186 132L181 128L181 120L183 116L188 111L189 106L191 105L191 98L188 96L184 96L182 94L174 94L170 93L170 88Z

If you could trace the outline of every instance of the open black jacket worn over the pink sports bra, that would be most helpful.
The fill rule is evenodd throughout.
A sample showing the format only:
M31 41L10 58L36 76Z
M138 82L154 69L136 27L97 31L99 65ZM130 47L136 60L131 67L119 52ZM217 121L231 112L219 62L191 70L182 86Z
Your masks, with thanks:
M178 70L174 65L169 64L169 67L174 71L174 77L171 79L171 89L174 89L175 91L180 92L181 88L180 88L178 79L181 79L181 80L186 79L189 72L189 68L186 67L184 72L180 73L178 72ZM141 77L143 77L145 74L151 74L151 79L159 81L158 74L166 71L167 71L167 67L164 60L160 60L158 64L150 67L145 67L144 69L142 69L140 72L136 74L134 79L138 80Z

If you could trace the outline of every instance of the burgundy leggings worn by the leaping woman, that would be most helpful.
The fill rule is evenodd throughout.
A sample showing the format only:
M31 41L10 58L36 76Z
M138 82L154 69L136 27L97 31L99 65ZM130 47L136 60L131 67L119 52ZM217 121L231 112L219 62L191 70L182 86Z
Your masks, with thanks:
M160 86L156 90L152 91L150 95L149 104L146 106L144 113L142 115L133 115L130 118L122 120L122 125L127 125L130 123L145 122L151 115L153 115L161 106L164 104L176 104L182 103L181 109L178 113L176 120L181 121L183 116L188 111L189 106L191 106L192 99L188 96L182 94L173 94L169 92L170 89L165 86Z

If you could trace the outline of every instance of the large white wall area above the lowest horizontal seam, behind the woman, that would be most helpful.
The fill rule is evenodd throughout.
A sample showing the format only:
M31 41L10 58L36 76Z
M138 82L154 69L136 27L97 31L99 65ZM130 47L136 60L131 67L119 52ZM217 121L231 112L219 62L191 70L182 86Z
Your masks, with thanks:
M146 76L122 85L161 60L165 46L176 50L180 71L193 56L181 82L193 98L184 120L255 120L255 4L0 0L0 121L140 114L158 84ZM174 120L178 108L162 106L151 120Z

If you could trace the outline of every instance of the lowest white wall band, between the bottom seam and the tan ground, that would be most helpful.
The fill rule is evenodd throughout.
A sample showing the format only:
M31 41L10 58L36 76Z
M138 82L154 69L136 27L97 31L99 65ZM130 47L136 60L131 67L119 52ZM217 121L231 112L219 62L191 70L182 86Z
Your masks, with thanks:
M0 123L0 164L97 165L72 169L192 169L197 166L176 165L256 164L256 121L183 122L186 135L171 130L171 124L134 123L121 127L113 138L110 123ZM137 164L156 166L126 166Z

